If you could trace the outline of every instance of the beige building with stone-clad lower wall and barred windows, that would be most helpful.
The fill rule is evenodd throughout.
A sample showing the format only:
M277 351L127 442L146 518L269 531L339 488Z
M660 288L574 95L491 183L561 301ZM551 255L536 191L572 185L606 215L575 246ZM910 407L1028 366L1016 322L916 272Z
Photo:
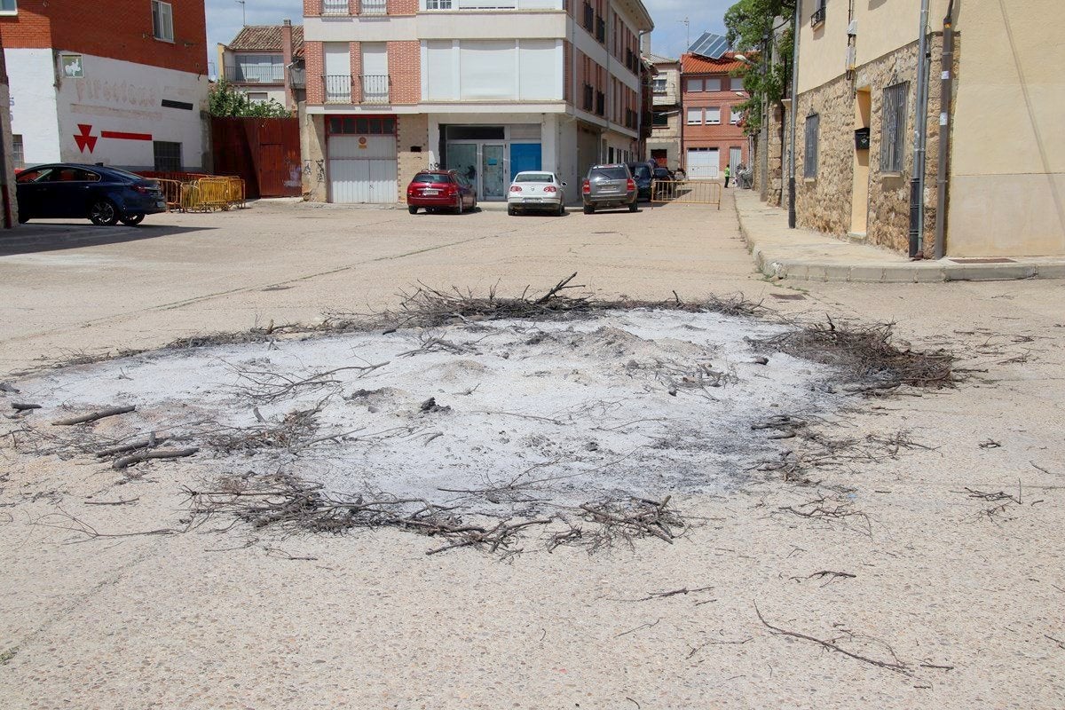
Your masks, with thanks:
M1061 3L930 0L924 26L920 4L801 3L798 224L927 257L1065 254L1065 143L1050 138L1065 111Z

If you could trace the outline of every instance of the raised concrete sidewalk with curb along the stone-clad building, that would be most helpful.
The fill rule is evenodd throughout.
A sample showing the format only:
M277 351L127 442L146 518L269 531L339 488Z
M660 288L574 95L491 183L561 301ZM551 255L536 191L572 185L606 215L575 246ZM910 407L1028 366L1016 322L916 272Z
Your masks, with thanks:
M1065 258L1018 257L910 261L881 247L788 229L787 210L766 207L752 189L734 191L740 232L758 270L779 279L928 283L1065 279Z

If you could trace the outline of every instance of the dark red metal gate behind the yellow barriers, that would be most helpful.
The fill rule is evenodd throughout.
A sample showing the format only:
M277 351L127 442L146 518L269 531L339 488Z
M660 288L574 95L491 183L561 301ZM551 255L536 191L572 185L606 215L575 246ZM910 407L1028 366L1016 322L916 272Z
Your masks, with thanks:
M247 197L297 197L302 193L296 118L212 116L211 141L215 174L243 178Z

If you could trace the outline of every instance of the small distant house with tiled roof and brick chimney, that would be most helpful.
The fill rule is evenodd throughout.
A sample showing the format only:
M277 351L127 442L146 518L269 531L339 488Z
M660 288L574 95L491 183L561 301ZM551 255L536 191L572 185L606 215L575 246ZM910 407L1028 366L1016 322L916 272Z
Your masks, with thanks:
M277 101L290 111L306 97L304 28L281 24L243 28L218 45L218 78L256 102Z

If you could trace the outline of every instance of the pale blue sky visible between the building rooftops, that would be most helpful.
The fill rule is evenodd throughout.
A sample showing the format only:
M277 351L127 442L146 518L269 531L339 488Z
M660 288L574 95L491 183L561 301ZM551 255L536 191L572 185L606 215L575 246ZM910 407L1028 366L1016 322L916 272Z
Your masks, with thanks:
M684 19L688 18L687 33L694 42L703 32L724 33L722 18L735 0L643 0L655 31L651 35L651 50L656 54L677 56L686 49ZM248 24L280 24L289 18L294 24L304 21L302 0L246 0L243 6ZM217 68L218 43L228 43L241 30L242 5L236 0L207 0L208 61L214 72Z

